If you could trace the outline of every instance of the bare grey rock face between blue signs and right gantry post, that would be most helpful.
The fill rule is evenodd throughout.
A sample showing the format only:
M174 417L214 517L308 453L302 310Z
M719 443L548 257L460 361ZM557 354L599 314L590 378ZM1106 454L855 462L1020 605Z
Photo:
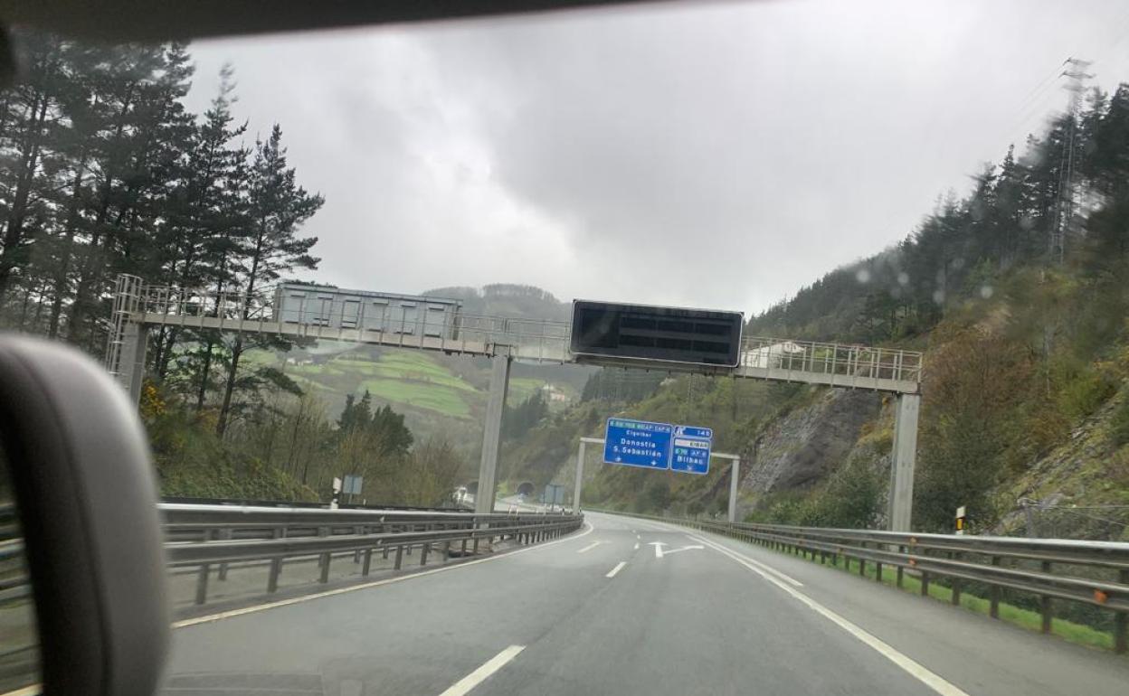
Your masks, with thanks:
M742 493L755 497L821 481L847 461L863 425L881 409L879 394L820 389L809 404L768 425L742 476Z

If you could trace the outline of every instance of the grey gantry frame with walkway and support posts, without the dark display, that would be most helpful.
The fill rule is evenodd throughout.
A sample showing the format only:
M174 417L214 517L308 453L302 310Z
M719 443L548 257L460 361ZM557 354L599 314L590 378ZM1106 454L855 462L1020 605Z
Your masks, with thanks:
M326 289L333 292L334 289ZM736 367L690 364L657 360L575 355L570 323L515 319L461 312L400 312L365 317L344 303L277 307L277 294L215 292L146 284L121 275L114 296L106 368L129 390L141 395L147 334L150 328L181 327L289 338L345 341L385 347L437 351L490 358L490 395L479 485L493 491L501 416L510 363L586 363L662 371L697 372L734 378L765 379L870 389L898 397L891 467L891 529L908 530L917 451L922 354L916 351L816 343L781 338L743 337ZM426 298L420 298L426 301ZM329 307L329 309L327 309ZM493 495L479 495L479 511L493 510Z

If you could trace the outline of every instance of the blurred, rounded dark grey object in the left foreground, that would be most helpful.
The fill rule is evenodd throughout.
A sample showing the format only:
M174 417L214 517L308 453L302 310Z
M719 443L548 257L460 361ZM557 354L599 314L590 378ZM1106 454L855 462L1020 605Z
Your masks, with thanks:
M135 408L78 351L0 334L0 449L47 696L150 696L169 642L157 488Z

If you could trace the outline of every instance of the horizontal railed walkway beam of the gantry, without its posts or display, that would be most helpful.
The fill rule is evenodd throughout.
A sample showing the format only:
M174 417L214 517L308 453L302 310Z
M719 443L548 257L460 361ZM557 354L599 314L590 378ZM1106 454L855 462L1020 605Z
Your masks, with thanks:
M113 331L106 353L110 372L133 377L128 327L184 327L290 338L345 341L386 347L437 351L493 358L505 355L530 362L597 364L690 371L707 375L805 382L895 394L917 394L921 382L921 353L854 344L815 343L765 337L742 340L737 367L662 361L597 359L569 351L570 325L550 319L515 319L426 312L409 320L368 327L356 316L327 315L321 308L288 312L280 320L269 293L246 296L146 285L134 276L119 280ZM350 326L352 324L352 326ZM646 364L645 364L646 362ZM132 381L132 379L130 380Z

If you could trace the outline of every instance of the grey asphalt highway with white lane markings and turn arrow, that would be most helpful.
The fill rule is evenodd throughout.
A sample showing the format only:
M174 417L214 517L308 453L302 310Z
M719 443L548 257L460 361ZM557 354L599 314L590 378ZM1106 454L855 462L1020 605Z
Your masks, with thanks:
M192 619L168 696L1123 695L1129 660L760 547L596 513L413 576Z

